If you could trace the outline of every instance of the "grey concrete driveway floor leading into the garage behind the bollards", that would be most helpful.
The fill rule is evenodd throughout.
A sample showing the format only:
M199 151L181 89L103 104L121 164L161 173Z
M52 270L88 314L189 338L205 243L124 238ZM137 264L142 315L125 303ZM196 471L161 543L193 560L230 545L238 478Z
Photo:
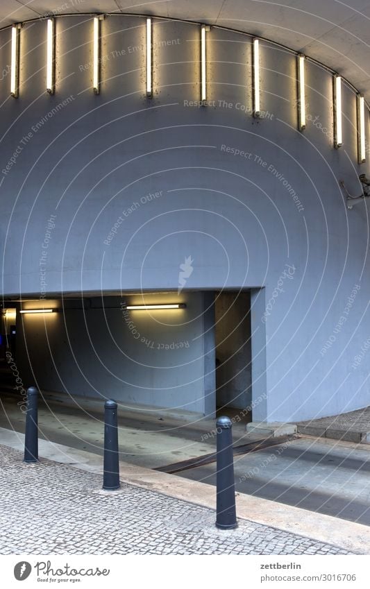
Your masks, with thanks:
M2 393L0 400L0 427L5 428L0 443L6 445L4 432L24 432L24 413L15 395ZM52 445L88 452L101 463L103 403L80 401L78 407L56 398L40 399L40 438ZM121 407L120 459L131 463L133 472L146 468L153 476L165 474L153 470L158 468L174 472L177 463L180 470L176 468L176 475L166 475L174 484L176 479L187 479L185 486L190 480L215 486L216 463L204 460L215 452L215 420L193 418L189 422L184 418ZM306 513L317 512L370 526L370 445L301 436L292 436L292 440L274 438L269 447L262 442L257 452L235 452L235 489L239 496L274 502L276 509L285 504L303 508ZM235 423L235 450L242 445L251 447L255 441L255 435L246 434L245 423ZM178 464L183 461L191 461L191 468L183 470L183 464Z

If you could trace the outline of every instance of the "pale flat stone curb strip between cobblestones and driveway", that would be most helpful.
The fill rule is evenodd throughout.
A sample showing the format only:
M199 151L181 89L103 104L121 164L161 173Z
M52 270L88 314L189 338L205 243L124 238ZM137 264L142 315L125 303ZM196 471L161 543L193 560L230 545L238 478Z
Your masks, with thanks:
M24 434L0 428L0 443L22 451ZM39 441L39 452L42 458L103 474L103 459L98 454L44 440ZM119 474L122 482L209 509L216 507L214 486L125 462L119 463ZM237 517L319 540L357 554L370 554L370 527L330 515L237 493Z

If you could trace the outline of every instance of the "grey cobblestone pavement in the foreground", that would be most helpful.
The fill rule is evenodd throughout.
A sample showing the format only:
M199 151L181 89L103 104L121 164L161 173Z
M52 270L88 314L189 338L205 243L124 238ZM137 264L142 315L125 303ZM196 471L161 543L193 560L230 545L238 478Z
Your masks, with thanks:
M351 554L248 520L215 527L215 512L0 445L0 554Z

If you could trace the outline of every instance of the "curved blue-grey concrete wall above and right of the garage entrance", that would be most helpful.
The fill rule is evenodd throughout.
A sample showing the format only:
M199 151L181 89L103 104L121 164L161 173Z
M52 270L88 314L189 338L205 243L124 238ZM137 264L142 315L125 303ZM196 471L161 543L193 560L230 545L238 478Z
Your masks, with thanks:
M97 96L91 17L56 19L52 96L46 22L22 28L18 99L10 29L0 37L4 296L177 290L191 256L186 289L253 289L253 397L267 391L255 420L369 404L367 209L348 211L339 188L342 179L360 194L368 170L357 164L353 89L343 86L336 150L332 74L306 62L300 133L296 56L269 42L255 119L251 37L241 33L207 34L206 108L195 24L153 19L153 99L144 18L101 23Z

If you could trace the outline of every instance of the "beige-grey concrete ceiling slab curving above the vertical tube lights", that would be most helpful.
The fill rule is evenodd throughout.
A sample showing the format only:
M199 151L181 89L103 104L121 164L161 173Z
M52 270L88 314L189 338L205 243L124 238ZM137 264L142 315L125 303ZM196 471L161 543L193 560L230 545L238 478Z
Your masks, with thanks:
M49 12L158 15L260 35L339 71L370 102L370 0L1 0L0 27Z

